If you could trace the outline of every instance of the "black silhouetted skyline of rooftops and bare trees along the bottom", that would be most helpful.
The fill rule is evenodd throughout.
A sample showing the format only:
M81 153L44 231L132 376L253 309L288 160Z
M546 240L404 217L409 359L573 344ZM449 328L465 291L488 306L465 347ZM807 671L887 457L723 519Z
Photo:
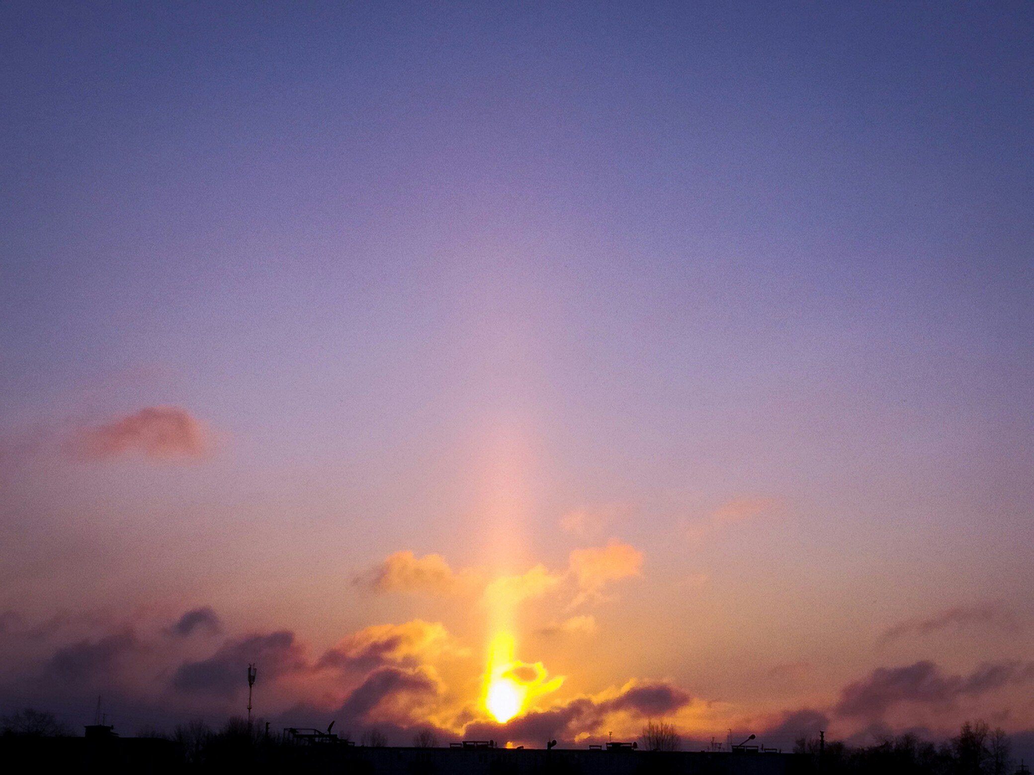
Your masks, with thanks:
M86 767L105 771L224 772L348 772L392 773L687 773L717 775L818 775L819 773L883 773L885 775L1027 775L1030 770L1013 756L1013 740L1001 727L966 721L959 734L940 745L914 733L884 737L869 746L849 746L801 736L787 751L766 746L750 735L728 744L683 740L664 721L650 720L638 741L607 740L587 746L506 747L494 740L445 741L424 729L406 746L392 746L377 730L360 743L346 733L286 727L243 718L231 719L216 732L194 720L172 735L144 731L120 738L113 725L86 726L73 737L50 713L23 710L0 722L0 755L8 764L35 767ZM1028 741L1029 742L1029 741Z

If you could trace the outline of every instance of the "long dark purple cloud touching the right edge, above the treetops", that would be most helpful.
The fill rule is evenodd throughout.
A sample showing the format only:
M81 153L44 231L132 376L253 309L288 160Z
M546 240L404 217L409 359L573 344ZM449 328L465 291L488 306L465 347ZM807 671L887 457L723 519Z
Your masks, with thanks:
M844 687L834 712L840 716L881 718L899 703L950 706L963 695L982 694L1034 677L1034 664L985 663L969 676L945 675L932 661L903 668L880 668Z

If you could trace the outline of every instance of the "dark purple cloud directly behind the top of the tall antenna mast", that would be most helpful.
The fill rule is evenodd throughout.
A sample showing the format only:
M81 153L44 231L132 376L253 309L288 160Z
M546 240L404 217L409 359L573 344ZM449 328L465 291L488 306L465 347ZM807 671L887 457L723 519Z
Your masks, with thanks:
M187 694L229 699L247 686L246 671L251 662L266 679L307 668L295 633L279 630L227 642L208 659L184 662L173 676L173 686Z

